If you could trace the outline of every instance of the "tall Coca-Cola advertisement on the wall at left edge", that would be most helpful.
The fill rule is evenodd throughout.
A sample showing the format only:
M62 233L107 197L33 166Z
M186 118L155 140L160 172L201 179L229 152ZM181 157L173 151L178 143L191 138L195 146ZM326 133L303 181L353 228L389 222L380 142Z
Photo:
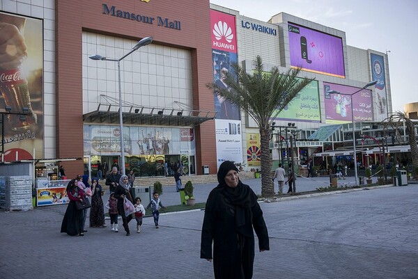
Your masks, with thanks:
M42 20L0 13L2 161L43 158Z

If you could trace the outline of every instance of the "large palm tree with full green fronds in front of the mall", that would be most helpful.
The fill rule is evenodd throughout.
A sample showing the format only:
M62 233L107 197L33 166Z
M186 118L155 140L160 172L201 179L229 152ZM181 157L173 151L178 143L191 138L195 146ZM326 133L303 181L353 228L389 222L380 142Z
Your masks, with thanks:
M270 173L270 126L274 118L313 79L298 78L300 68L281 73L278 67L272 67L270 72L265 72L261 56L256 57L252 74L247 74L236 63L232 67L233 71L224 73L224 83L228 88L219 88L215 83L206 86L215 89L219 97L238 106L257 123L261 141L261 196L272 197L274 186Z

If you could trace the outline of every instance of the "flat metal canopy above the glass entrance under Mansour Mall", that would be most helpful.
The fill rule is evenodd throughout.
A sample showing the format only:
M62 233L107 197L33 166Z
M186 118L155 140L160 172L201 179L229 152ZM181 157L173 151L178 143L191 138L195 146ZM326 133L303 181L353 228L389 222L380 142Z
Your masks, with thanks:
M83 121L89 123L119 123L118 99L104 97L106 102L101 102L98 109L83 115ZM109 102L109 100L111 102ZM117 102L116 102L117 101ZM176 102L180 104L180 102ZM123 102L123 124L125 125L164 125L164 126L190 126L196 127L201 123L212 120L216 116L215 111L202 111L182 108L138 106Z

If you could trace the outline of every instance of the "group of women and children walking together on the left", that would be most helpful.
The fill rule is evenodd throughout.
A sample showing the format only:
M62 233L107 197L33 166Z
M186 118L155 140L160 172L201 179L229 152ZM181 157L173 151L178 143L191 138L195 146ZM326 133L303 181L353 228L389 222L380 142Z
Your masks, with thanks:
M109 174L109 191L110 196L106 205L103 206L102 195L104 191L102 186L98 183L96 178L91 182L88 180L88 175L79 176L68 183L67 195L70 199L68 207L65 211L63 222L61 224L61 232L66 232L69 235L83 236L87 230L84 228L88 214L88 207L77 209L77 202L84 203L86 198L91 197L90 209L90 227L91 228L106 228L107 225L104 219L104 207L109 210L109 217L111 223L111 231L118 232L118 216L122 218L122 225L125 229L126 235L130 235L129 223L132 218L137 221L137 233L141 232L142 219L146 214L146 210L141 205L141 198L133 199L132 184L127 175L118 173L116 167L112 169ZM118 179L118 180L117 180ZM108 184L108 182L106 182ZM128 210L126 204L133 207L132 212L125 212ZM159 228L158 221L160 216L160 208L165 208L160 201L159 194L153 193L153 199L148 204L147 209L151 208L155 228Z

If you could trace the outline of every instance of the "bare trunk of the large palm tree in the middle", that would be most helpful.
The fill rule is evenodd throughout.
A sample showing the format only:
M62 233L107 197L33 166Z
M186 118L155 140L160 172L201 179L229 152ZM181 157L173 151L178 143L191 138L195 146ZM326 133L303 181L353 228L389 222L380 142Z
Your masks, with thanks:
M274 186L271 175L270 162L270 131L260 127L260 147L261 147L261 196L268 198L274 196Z

